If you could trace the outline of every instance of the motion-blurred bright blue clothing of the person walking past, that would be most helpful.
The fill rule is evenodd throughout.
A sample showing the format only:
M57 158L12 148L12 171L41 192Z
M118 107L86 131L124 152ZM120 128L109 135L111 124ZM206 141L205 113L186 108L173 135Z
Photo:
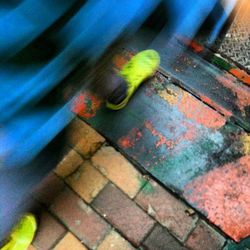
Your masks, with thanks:
M25 67L16 64L16 58L22 57L24 52L16 53L41 35L73 2L26 0L0 17L0 36L3 38L0 43L0 58L5 59L0 67L0 123L4 131L0 157L7 159L2 163L3 167L25 165L27 161L24 159L30 160L31 156L38 153L38 148L41 150L45 146L42 141L39 145L32 144L33 140L30 138L36 137L36 131L45 126L46 120L63 122L58 126L58 133L73 117L70 112L65 112L64 119L58 120L52 110L44 110L43 114L47 112L47 118L38 120L37 117L42 114L33 107L82 60L94 63L125 30L130 33L136 31L159 1L88 1L63 27L54 31L53 40L58 41L60 50L53 58L36 64L31 62ZM34 121L35 128L30 125ZM18 129L12 129L12 124L16 124ZM54 127L46 125L46 131L47 137L53 139ZM30 142L26 144L29 149L22 147L21 152L18 139L23 142L22 134L26 134L25 139ZM48 143L49 139L44 138L44 141ZM16 151L19 152L18 155ZM29 157L22 156L27 153ZM12 159L12 155L15 155L15 164L10 164L13 161L8 160Z

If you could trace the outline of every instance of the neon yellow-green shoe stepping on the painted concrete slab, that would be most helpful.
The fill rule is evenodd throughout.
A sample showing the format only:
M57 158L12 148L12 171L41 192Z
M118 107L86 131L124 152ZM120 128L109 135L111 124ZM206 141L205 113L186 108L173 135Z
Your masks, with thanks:
M113 110L124 108L140 84L153 76L159 64L160 56L155 50L144 50L136 54L119 72L119 76L127 83L126 97L119 104L107 102L106 106Z

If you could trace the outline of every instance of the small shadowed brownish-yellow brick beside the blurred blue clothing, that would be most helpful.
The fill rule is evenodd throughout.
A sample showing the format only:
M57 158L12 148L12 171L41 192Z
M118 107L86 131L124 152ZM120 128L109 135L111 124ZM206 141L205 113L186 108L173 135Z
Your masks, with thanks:
M64 178L72 174L82 162L82 157L74 149L69 148L63 159L56 166L55 173Z

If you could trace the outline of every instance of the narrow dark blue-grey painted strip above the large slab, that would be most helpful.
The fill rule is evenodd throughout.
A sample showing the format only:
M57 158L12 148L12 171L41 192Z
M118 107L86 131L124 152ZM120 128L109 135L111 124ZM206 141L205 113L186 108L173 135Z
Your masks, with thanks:
M164 75L172 75L176 82L197 97L206 96L209 105L220 108L226 116L232 118L247 131L250 131L250 107L242 105L244 98L250 99L249 87L239 82L231 74L220 70L200 56L185 49L183 44L175 42L168 49L155 48L161 54L160 71ZM217 78L218 77L218 78ZM232 87L220 82L220 77L231 81ZM236 91L244 92L243 97ZM245 102L246 103L246 102ZM243 107L244 106L244 107ZM223 114L224 114L223 113Z

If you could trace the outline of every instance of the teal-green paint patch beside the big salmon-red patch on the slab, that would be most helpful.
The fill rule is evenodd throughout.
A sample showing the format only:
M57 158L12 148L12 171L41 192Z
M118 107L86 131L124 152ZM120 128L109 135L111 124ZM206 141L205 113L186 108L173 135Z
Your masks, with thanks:
M193 143L183 143L176 148L176 153L158 162L149 169L162 183L175 187L181 192L185 185L210 171L218 165L210 155L219 155L224 138L219 132L206 133Z

